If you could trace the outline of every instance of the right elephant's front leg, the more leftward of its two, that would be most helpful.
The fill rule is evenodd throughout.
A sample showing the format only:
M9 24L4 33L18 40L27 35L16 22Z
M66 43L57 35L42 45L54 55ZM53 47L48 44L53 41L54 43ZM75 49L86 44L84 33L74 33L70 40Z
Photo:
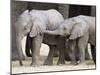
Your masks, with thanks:
M69 40L68 41L68 53L69 53L69 57L71 60L71 64L76 65L77 61L76 61L76 40Z

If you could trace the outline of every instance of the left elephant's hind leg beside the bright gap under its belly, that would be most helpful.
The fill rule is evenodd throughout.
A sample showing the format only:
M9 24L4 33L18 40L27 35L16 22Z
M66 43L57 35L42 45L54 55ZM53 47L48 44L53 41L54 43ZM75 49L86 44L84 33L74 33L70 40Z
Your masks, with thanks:
M55 46L50 45L49 54L47 56L47 59L44 62L44 65L53 65L53 56L54 56Z

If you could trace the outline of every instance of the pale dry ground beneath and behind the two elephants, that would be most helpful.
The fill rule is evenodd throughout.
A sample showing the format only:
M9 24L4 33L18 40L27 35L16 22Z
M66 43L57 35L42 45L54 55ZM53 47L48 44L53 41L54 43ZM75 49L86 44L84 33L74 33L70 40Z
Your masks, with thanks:
M25 39L22 41L23 52L25 54ZM48 55L49 47L47 45L42 44L40 50L40 63L41 66L32 67L31 57L26 57L23 61L23 66L19 65L18 61L12 61L12 74L19 73L36 73L36 72L50 72L50 71L69 71L69 70L83 70L83 69L95 69L95 65L92 60L86 61L86 64L81 65L71 65L70 62L66 61L65 65L56 65L58 61L58 57L55 57L53 60L52 66L43 66L43 62Z

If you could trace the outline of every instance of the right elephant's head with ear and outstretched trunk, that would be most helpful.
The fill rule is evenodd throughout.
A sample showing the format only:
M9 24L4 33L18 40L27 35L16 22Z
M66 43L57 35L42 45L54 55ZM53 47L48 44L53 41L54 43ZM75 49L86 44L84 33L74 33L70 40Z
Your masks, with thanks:
M69 39L77 39L88 31L87 23L80 17L66 19L56 30L46 30L44 33L51 35L69 36Z

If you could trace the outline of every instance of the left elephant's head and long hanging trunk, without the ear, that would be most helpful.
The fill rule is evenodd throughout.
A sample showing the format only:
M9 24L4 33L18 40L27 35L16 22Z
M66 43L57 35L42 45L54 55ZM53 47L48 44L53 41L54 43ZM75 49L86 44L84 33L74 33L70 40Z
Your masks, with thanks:
M29 11L24 11L15 22L15 32L16 32L16 46L19 53L20 64L22 65L21 60L23 59L22 52L22 39L26 36L31 30L32 22Z

